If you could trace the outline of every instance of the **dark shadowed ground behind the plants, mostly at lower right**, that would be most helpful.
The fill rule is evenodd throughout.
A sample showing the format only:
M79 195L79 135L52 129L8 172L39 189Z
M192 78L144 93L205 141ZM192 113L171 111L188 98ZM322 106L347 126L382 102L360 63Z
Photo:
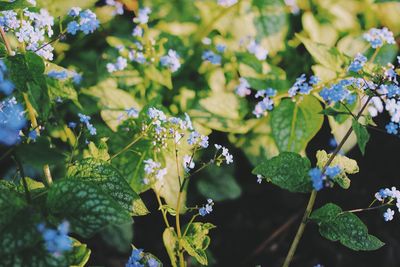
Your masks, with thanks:
M384 129L387 118L378 119L378 126ZM382 187L399 184L398 151L400 140L383 131L370 129L371 139L366 154L362 156L358 147L347 156L358 161L360 172L350 178L350 189L324 189L318 193L314 208L333 202L343 210L366 208L374 194ZM327 121L323 129L311 141L307 155L315 158L318 149L330 150L330 130ZM215 134L214 139L221 139ZM222 137L223 138L223 137ZM297 231L301 216L307 205L307 194L294 194L280 188L256 183L251 174L252 166L240 150L233 150L236 160L236 179L242 187L242 195L233 201L218 202L207 221L217 225L211 230L210 262L214 266L281 266L293 237ZM196 177L196 179L201 177ZM218 177L215 177L218 179ZM204 198L197 195L195 188L189 188L189 203L202 203ZM162 244L164 224L157 211L157 203L151 193L143 195L144 201L152 213L149 216L135 217L134 243L160 258L165 266L169 259ZM314 266L318 263L332 266L399 266L400 232L397 209L395 219L385 222L383 210L372 210L357 215L368 226L371 234L386 243L377 251L352 251L338 242L331 242L318 233L313 223L307 225L291 266ZM183 220L188 220L183 216ZM129 254L119 254L107 247L99 237L88 240L92 249L90 265L124 266ZM189 266L196 266L189 263Z

